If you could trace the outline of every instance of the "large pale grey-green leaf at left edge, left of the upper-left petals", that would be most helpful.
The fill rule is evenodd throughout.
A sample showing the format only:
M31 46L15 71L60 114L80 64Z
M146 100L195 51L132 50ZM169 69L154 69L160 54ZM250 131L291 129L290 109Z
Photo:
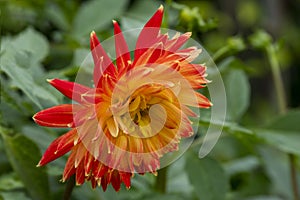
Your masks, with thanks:
M44 75L41 61L48 54L49 45L43 35L28 28L16 38L5 38L1 44L1 71L12 80L9 89L17 87L37 106L41 100L48 104L58 104L57 98L35 80ZM6 83L6 87L8 83Z

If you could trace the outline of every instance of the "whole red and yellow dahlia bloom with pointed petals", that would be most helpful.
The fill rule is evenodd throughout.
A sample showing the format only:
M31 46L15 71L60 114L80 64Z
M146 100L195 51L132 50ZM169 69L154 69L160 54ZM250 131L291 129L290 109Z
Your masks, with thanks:
M189 107L211 106L195 91L207 83L206 68L191 63L200 49L180 49L191 33L169 38L160 31L162 17L161 6L141 30L133 59L116 21L114 62L91 33L93 88L48 80L77 103L33 116L41 126L71 128L50 144L38 166L71 152L62 181L75 175L78 185L87 180L106 190L111 183L118 191L122 182L130 187L135 172L156 174L160 158L193 134L189 117L196 114Z

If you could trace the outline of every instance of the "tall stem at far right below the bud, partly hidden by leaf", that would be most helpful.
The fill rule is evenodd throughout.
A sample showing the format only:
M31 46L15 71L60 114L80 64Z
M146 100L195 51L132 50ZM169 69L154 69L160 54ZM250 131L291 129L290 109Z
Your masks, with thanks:
M275 85L275 90L277 94L278 109L280 114L285 114L287 111L286 96L284 92L283 81L280 73L279 62L276 56L276 49L273 44L266 47L266 52L271 65L271 71L273 76L273 81ZM298 182L297 182L297 171L296 171L296 157L295 155L289 153L289 163L290 163L290 176L291 184L293 190L294 200L299 200L298 192Z

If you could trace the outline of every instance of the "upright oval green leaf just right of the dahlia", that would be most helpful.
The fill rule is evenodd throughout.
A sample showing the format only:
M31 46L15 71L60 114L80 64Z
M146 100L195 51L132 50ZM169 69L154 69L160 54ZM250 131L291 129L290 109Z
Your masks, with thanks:
M243 70L231 70L225 79L227 112L230 120L238 120L249 106L250 85Z

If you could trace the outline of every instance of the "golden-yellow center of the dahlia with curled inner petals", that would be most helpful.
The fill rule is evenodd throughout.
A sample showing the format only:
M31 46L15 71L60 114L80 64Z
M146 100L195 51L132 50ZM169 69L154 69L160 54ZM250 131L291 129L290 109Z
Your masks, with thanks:
M149 153L177 143L181 110L171 89L146 84L125 101L118 104L123 106L113 107L104 127L114 145L133 153Z

